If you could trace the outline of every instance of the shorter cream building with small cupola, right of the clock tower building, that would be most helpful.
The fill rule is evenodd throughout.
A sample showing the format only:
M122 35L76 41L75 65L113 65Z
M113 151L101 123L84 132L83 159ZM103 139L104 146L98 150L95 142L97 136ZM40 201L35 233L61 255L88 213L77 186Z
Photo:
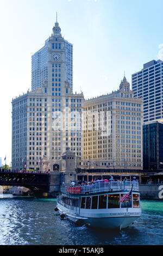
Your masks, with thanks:
M126 77L116 92L85 100L83 165L142 169L142 107Z

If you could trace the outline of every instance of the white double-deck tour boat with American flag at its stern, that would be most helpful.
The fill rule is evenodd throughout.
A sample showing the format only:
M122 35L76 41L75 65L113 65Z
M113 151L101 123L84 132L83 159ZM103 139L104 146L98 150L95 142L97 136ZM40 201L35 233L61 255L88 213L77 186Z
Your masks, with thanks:
M61 187L57 208L61 218L97 228L127 228L141 215L139 182L98 181Z

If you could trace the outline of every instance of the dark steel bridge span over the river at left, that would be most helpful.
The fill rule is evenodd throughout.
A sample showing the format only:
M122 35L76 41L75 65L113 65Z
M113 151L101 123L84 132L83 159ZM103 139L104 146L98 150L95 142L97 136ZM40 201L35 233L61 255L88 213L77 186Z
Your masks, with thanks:
M60 173L28 172L27 170L0 171L0 186L23 186L29 188L35 196L59 191Z

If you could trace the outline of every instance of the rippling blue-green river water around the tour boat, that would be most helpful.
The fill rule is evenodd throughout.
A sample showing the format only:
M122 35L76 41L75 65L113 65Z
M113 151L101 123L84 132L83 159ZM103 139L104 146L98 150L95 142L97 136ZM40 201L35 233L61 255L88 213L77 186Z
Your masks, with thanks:
M141 200L133 227L76 227L54 212L56 199L0 199L0 245L163 245L163 201Z

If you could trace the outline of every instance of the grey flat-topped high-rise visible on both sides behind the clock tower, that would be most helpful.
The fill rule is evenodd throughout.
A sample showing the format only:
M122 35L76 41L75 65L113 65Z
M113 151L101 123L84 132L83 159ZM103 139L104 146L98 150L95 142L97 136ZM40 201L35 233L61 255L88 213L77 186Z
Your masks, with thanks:
M55 25L58 22L55 23ZM60 28L59 28L60 29ZM73 84L73 45L67 40L63 39L65 47L65 81L70 84L72 89ZM32 90L40 88L45 80L48 78L48 45L50 37L45 41L45 46L43 46L39 51L32 56ZM58 41L53 43L52 48L55 50L60 50L61 45Z

